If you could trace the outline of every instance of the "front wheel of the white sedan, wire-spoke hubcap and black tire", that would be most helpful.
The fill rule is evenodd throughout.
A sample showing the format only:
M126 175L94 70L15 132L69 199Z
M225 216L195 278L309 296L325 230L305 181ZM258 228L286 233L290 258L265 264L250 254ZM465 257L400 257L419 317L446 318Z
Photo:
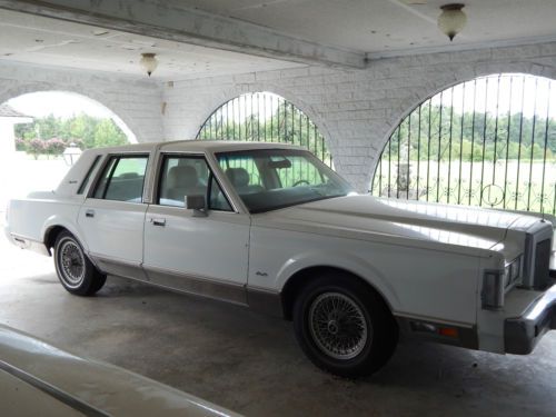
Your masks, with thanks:
M370 375L393 355L398 327L381 297L348 274L311 281L294 306L296 337L319 368L341 377Z

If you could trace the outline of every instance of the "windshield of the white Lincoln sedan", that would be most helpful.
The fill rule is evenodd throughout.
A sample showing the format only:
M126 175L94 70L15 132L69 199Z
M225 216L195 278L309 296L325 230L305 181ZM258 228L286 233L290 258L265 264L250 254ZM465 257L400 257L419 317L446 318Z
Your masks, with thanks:
M350 186L312 153L258 149L216 155L250 212L346 196Z

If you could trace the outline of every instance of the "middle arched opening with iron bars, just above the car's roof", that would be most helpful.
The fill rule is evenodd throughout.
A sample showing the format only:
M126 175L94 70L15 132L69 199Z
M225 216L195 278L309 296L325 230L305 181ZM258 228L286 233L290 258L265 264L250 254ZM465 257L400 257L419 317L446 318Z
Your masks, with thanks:
M207 118L197 139L292 143L332 166L317 126L292 102L268 91L248 92L225 102Z

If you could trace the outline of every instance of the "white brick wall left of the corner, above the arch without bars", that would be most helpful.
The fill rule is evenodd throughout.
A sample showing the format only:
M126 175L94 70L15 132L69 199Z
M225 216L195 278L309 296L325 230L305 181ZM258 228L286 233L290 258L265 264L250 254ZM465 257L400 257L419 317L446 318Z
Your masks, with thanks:
M71 91L118 116L139 142L163 140L161 89L149 80L0 61L0 103L36 91Z

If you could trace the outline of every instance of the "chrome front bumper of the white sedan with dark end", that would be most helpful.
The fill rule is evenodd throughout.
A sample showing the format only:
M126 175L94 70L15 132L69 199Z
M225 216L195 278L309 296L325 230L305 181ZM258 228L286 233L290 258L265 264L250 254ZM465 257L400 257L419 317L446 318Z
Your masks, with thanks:
M504 322L506 354L528 355L548 330L556 329L556 285L538 297L520 317Z

